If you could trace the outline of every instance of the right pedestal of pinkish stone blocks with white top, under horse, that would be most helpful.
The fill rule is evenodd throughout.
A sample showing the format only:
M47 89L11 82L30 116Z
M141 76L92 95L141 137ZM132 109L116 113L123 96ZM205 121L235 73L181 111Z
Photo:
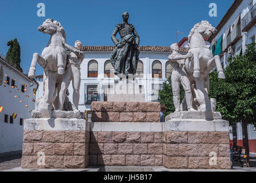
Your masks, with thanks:
M211 118L201 112L181 113L170 114L163 124L163 165L170 169L231 169L229 122L218 112L209 114Z

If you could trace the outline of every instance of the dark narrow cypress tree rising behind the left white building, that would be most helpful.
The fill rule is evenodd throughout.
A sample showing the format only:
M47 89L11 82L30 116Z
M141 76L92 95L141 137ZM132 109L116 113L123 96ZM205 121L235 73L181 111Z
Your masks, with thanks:
M17 38L8 41L7 46L9 50L6 53L6 61L13 65L16 69L22 71L21 69L21 47L19 46L19 42Z

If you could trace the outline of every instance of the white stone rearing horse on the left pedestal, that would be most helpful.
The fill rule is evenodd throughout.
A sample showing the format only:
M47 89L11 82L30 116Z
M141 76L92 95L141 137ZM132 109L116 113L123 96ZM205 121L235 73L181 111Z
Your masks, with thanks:
M66 67L65 47L73 52L78 50L66 44L66 33L60 22L46 19L37 29L50 34L50 40L41 55L33 54L28 76L35 77L37 62L44 68L44 96L37 101L37 110L46 112L53 110L53 105L55 109L60 105L57 96Z

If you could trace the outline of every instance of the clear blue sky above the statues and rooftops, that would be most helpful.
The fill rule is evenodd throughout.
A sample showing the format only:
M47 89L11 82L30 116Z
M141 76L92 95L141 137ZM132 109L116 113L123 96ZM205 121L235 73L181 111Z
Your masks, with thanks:
M37 30L46 18L56 19L64 26L67 43L74 45L80 40L83 45L111 46L111 33L129 12L132 23L140 35L141 46L170 46L187 37L191 28L202 20L217 26L234 0L52 0L0 2L0 53L6 54L7 41L17 38L21 45L21 67L29 70L34 52L40 53L49 40ZM37 4L45 4L45 17L37 17ZM210 17L210 3L217 5L217 17ZM86 57L86 55L85 55ZM37 73L43 70L37 66Z

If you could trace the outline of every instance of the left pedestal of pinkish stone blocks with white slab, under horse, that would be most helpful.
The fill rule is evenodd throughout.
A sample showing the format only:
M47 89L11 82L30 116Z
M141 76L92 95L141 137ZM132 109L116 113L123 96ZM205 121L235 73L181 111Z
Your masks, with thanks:
M24 122L21 168L86 168L89 138L85 120L29 118Z

